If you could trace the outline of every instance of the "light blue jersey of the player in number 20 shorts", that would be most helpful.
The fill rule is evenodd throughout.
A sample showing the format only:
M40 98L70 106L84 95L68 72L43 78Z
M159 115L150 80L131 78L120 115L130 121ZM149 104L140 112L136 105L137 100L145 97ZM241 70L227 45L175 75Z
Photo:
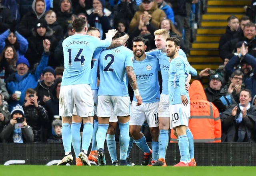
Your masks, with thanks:
M189 96L186 90L186 80L189 74L190 65L188 61L182 57L178 56L172 60L169 69L169 80L168 80L168 90L169 90L169 101L170 105L181 104L181 95Z

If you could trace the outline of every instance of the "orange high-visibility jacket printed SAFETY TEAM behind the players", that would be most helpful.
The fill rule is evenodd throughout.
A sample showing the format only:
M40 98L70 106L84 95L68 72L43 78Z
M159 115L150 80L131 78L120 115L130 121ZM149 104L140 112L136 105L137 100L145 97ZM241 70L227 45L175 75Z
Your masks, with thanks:
M220 143L221 121L216 106L207 101L204 88L200 81L194 80L188 90L190 96L190 119L188 127L193 134L195 143ZM177 142L173 129L171 143Z

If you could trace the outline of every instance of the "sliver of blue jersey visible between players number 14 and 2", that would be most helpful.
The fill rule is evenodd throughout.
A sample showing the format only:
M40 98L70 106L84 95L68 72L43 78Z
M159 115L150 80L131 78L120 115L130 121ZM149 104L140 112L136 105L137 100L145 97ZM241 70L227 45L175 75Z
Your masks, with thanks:
M91 89L92 90L98 90L97 86L97 79L98 79L98 64L99 64L99 57L100 57L100 52L102 51L102 48L97 48L92 56L92 59L96 59L96 61L92 61L91 63L91 71L92 71L92 84Z

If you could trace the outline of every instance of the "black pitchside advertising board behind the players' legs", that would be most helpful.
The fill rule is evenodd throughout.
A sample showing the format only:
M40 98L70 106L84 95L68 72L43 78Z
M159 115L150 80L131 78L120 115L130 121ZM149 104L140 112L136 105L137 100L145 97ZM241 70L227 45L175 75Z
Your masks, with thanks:
M151 143L148 145L151 146ZM106 145L104 149L107 164L110 165L111 160ZM119 158L119 143L116 143L116 149ZM63 155L64 149L61 143L0 144L0 164L4 165L56 165ZM256 143L195 143L194 157L197 166L256 166ZM133 145L129 158L136 165L140 165L143 153L136 144ZM169 143L166 164L174 165L179 160L177 143ZM75 164L75 160L72 164Z

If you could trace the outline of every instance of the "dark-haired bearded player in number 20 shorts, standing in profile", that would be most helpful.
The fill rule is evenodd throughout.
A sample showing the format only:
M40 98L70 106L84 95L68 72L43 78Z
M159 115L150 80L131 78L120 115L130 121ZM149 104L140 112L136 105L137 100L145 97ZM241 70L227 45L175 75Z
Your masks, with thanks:
M190 65L179 55L180 40L176 37L166 39L166 55L172 60L170 63L168 92L170 102L170 128L178 135L180 149L180 162L174 166L188 166L191 162L189 156L189 143L186 134L188 118L190 117L189 96L186 90L186 80Z

